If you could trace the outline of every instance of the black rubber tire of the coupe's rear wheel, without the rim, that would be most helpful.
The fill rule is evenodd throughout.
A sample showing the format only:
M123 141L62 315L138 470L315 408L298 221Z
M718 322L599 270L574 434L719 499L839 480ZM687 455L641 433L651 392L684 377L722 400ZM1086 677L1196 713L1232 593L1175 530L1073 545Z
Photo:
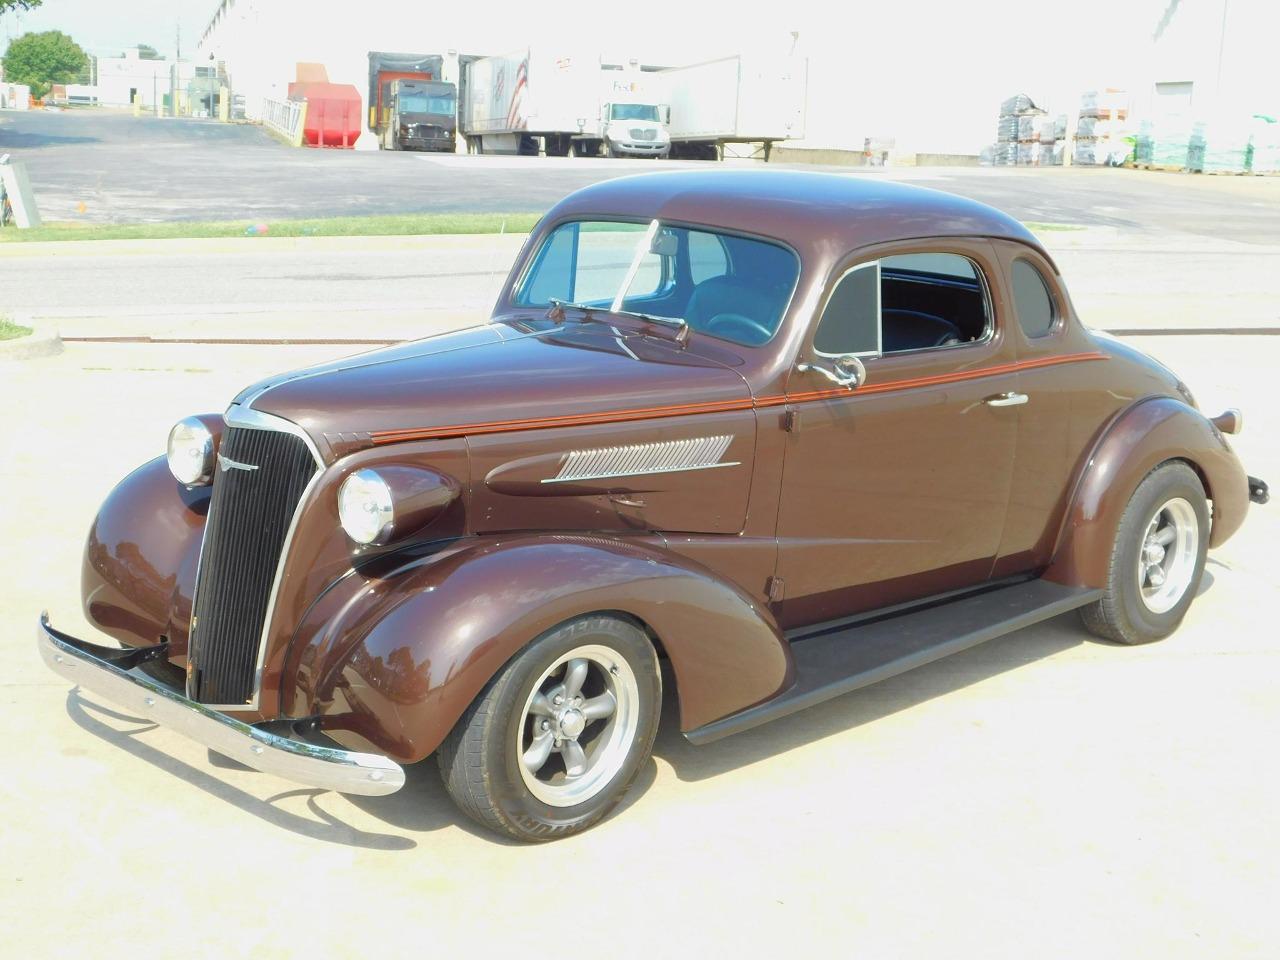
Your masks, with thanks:
M1194 513L1197 527L1194 566L1176 603L1169 609L1156 612L1148 607L1142 595L1139 556L1148 529L1157 520L1157 511L1174 499L1190 504ZM1208 552L1208 534L1210 515L1204 485L1196 471L1181 461L1170 461L1152 470L1138 484L1120 517L1115 545L1111 548L1106 595L1080 608L1084 626L1096 636L1119 644L1147 644L1172 634L1183 622L1199 589L1201 576L1204 572L1204 556Z

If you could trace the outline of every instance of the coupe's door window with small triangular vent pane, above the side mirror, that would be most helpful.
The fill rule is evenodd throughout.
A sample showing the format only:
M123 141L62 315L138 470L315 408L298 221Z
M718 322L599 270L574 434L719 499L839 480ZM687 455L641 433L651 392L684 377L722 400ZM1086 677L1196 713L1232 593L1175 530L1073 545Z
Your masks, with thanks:
M850 270L814 333L819 353L904 353L980 340L991 306L978 265L957 253L904 253Z

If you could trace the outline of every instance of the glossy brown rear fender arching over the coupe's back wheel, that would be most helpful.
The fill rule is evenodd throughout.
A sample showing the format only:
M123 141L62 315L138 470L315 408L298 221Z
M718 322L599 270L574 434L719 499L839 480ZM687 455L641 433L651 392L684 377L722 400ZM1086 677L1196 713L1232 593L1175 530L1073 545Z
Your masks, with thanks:
M1120 517L1152 470L1169 460L1190 463L1213 506L1210 547L1234 534L1249 506L1244 467L1221 431L1202 413L1170 397L1125 410L1106 429L1080 470L1046 580L1106 588Z

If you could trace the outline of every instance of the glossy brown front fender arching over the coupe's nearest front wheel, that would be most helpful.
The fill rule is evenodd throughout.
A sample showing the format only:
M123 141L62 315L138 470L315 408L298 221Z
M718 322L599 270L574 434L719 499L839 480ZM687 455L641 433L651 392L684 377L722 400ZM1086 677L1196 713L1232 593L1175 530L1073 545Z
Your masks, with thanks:
M792 682L768 611L692 561L605 538L486 538L330 588L291 645L285 713L320 716L340 744L420 760L527 643L598 611L634 617L662 643L682 730Z

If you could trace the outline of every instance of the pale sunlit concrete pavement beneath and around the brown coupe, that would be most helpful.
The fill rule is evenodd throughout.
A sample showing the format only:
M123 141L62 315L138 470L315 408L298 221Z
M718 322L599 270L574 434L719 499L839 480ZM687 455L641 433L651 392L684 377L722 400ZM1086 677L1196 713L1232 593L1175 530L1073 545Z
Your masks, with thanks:
M1280 477L1275 337L1137 339ZM1276 507L1171 639L1024 630L737 737L673 703L626 809L543 847L454 812L429 762L370 800L212 765L81 698L84 532L182 415L333 347L70 344L0 371L0 931L6 955L1270 957L1280 861Z

